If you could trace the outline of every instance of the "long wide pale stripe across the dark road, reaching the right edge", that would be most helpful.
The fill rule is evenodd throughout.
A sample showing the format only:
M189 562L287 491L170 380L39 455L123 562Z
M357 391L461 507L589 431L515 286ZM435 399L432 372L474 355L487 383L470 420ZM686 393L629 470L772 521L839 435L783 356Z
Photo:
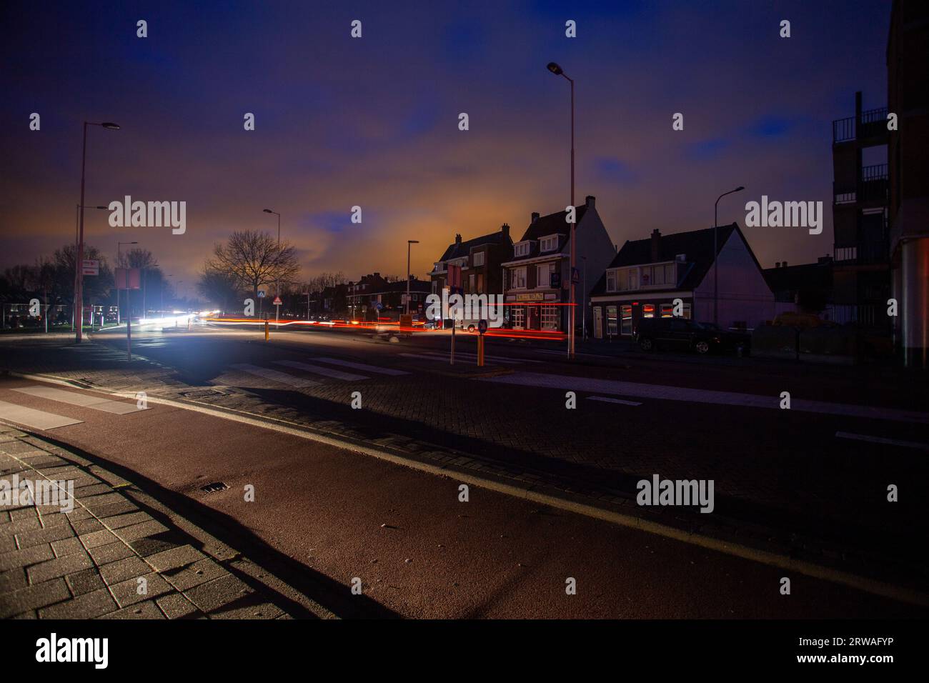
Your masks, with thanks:
M662 385L641 384L638 382L622 382L615 379L571 377L565 374L521 372L499 377L478 377L477 381L515 384L522 387L548 387L569 391L584 391L591 394L618 394L620 396L634 396L639 399L714 403L717 405L738 405L750 408L768 408L772 410L780 409L780 397L778 394L760 396L758 394L742 394L735 391L667 387ZM929 423L929 413L917 413L916 411L899 410L896 408L830 403L827 401L793 399L791 401L791 410L805 413L826 413L851 417L864 417L872 420Z

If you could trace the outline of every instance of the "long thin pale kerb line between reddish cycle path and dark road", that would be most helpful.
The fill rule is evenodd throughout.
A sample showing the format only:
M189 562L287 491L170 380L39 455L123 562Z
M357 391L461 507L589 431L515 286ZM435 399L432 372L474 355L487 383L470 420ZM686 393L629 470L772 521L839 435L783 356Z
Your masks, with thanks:
M66 387L74 386L70 381L55 376L24 374L17 372L10 372L9 374L15 377L22 377L23 379L29 379L37 382L53 382L55 384L63 385ZM99 391L99 389L92 390ZM125 396L126 398L133 398L134 396L132 393L118 391L108 393L111 393L113 396ZM883 596L884 598L901 600L903 602L909 602L911 604L921 605L923 607L929 606L929 595L919 590L905 586L886 584L868 576L859 576L858 574L853 574L848 571L839 571L831 567L815 564L804 559L794 558L791 555L784 553L768 552L766 550L754 548L750 545L741 545L739 543L723 541L718 538L713 538L713 536L699 532L687 532L666 524L661 524L660 522L652 521L650 519L639 518L635 515L615 512L613 510L607 510L601 507L579 503L574 500L559 498L556 495L535 491L535 484L524 487L513 484L506 484L495 479L482 479L474 474L459 472L446 466L430 465L418 460L411 460L409 458L403 457L402 455L388 453L386 451L374 448L373 446L361 445L353 441L341 440L335 437L327 437L322 434L310 432L307 431L306 427L303 427L297 423L287 422L286 420L268 417L265 415L250 414L245 411L236 411L234 409L219 411L216 410L216 408L208 407L206 404L191 404L196 403L197 401L172 401L170 399L161 399L155 396L150 396L149 401L153 403L161 403L162 405L172 406L174 408L194 411L196 413L213 415L214 417L231 420L232 422L240 422L245 425L271 429L283 434L291 434L301 439L317 441L319 443L325 443L330 446L345 449L347 451L370 455L380 460L385 460L386 462L409 467L411 469L417 469L422 472L438 475L439 477L448 477L449 472L452 472L456 481L483 487L489 491L504 493L505 495L509 495L514 498L529 500L533 503L538 503L541 505L552 506L556 509L566 510L568 512L573 512L575 514L583 515L593 519L603 519L604 521L608 521L612 524L638 529L643 532L654 533L665 538L671 538L675 541L680 541L681 543L697 545L698 547L715 550L716 552L720 552L725 555L731 555L735 558L750 559L754 562L760 562L761 564L766 564L772 567L797 571L799 573L805 574L806 576L812 576L813 578L822 579L824 581L831 581L834 584L847 585L857 590L871 593L873 595Z

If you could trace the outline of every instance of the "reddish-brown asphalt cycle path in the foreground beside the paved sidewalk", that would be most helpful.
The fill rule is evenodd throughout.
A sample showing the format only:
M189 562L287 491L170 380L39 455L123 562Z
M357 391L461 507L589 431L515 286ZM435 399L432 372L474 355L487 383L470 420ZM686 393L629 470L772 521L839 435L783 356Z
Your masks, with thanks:
M113 415L13 389L0 401L83 420L48 432L236 519L350 594L406 617L819 618L922 611L262 427L151 405ZM93 395L77 389L69 393ZM130 402L131 401L127 401ZM205 483L229 489L203 493ZM255 487L245 502L244 487ZM260 557L254 557L261 562ZM577 594L566 593L574 578Z

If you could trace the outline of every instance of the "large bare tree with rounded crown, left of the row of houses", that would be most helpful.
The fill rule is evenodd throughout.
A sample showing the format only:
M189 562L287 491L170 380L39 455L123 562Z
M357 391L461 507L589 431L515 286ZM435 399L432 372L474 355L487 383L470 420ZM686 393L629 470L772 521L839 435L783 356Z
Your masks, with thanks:
M279 244L268 232L242 230L229 235L227 243L216 244L203 272L229 276L237 289L258 296L263 284L294 282L300 264L291 244Z

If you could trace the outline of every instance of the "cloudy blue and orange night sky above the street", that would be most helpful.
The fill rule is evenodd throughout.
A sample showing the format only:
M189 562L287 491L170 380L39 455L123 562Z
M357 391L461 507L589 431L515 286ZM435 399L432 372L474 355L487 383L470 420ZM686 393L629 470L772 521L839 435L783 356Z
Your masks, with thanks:
M720 223L744 225L762 194L824 203L821 235L746 230L764 267L808 262L832 253L831 121L856 90L886 104L889 0L4 5L0 267L73 240L82 122L114 121L89 130L86 204L186 201L187 232L93 211L86 241L111 258L138 241L182 290L229 231L275 231L266 207L305 278L402 275L407 239L425 277L456 232L507 222L518 239L531 212L569 204L553 60L576 80L577 204L596 196L615 243L709 227L716 196L745 185Z

